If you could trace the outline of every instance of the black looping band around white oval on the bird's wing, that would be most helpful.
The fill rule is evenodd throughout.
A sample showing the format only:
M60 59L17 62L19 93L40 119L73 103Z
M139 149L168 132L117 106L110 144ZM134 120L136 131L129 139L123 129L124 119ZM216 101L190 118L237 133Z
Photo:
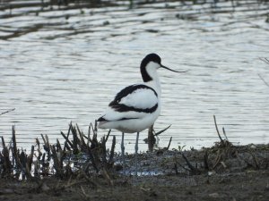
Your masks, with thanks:
M158 108L158 104L152 106L151 108L144 108L144 109L135 108L133 106L128 106L124 104L119 104L119 102L121 101L123 97L128 96L129 94L132 94L135 90L140 89L140 88L151 89L154 92L155 96L158 96L156 91L151 87L148 87L146 85L131 85L122 89L119 93L117 93L117 96L115 96L115 99L108 106L110 106L115 111L120 112L120 113L124 113L128 111L134 111L138 113L153 113Z

